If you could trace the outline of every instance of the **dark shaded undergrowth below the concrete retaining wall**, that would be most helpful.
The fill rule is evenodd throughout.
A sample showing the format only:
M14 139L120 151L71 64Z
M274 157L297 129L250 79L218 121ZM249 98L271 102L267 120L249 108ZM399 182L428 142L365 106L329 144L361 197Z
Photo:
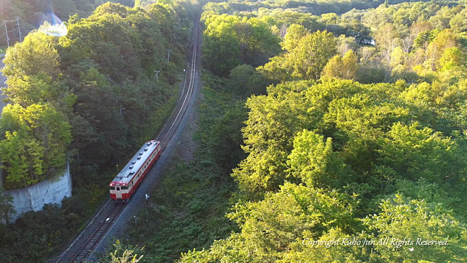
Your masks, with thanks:
M0 225L0 262L44 262L66 249L63 246L70 236L77 234L97 208L95 204L85 206L86 198L74 193L63 199L61 208L46 204L43 210L28 212L14 224Z

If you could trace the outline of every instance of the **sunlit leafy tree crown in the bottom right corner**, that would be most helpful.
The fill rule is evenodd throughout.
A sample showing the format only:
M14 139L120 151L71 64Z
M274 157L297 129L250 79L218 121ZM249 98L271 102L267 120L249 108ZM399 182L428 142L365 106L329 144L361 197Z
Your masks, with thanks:
M428 203L425 200L408 200L396 194L392 198L382 200L381 212L378 215L363 219L369 231L369 237L396 238L396 240L412 241L412 244L394 249L394 246L377 244L374 249L386 262L400 262L406 259L426 260L428 262L449 262L465 257L462 243L466 243L465 229L450 211L439 203ZM463 233L464 231L464 233ZM365 235L365 233L363 234ZM417 245L421 240L446 241L444 245Z

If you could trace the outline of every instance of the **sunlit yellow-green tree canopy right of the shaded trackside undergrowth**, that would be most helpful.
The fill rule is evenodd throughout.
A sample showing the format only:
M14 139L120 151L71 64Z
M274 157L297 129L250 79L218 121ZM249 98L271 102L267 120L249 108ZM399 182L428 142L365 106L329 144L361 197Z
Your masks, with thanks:
M240 231L179 262L466 261L465 6L376 1L339 16L321 4L321 17L306 13L309 1L205 6L206 22L232 13L269 21L285 52L257 68L277 85L246 102L247 157L232 173L241 200L229 214ZM342 34L339 45L320 30ZM370 34L376 45L359 46ZM236 67L229 89L248 87L252 74ZM302 243L339 238L452 242Z

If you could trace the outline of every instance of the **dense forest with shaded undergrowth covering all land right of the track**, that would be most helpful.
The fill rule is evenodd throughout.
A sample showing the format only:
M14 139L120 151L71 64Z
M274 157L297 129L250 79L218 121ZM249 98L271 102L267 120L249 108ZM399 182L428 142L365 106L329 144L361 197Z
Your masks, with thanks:
M200 106L209 129L200 127L199 155L183 164L195 175L157 186L145 224L103 262L467 260L462 1L203 10L203 65L215 74L204 73L203 101L237 102Z

